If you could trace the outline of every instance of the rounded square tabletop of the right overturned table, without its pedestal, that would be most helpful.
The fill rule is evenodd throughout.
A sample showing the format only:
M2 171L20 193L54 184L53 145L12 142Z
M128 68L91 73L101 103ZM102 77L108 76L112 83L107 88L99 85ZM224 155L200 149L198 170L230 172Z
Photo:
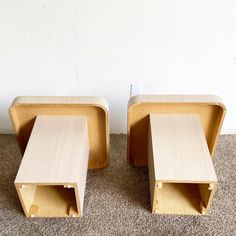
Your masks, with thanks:
M213 157L225 116L225 106L218 96L138 95L132 97L128 104L127 158L135 166L147 165L149 114L199 115Z

